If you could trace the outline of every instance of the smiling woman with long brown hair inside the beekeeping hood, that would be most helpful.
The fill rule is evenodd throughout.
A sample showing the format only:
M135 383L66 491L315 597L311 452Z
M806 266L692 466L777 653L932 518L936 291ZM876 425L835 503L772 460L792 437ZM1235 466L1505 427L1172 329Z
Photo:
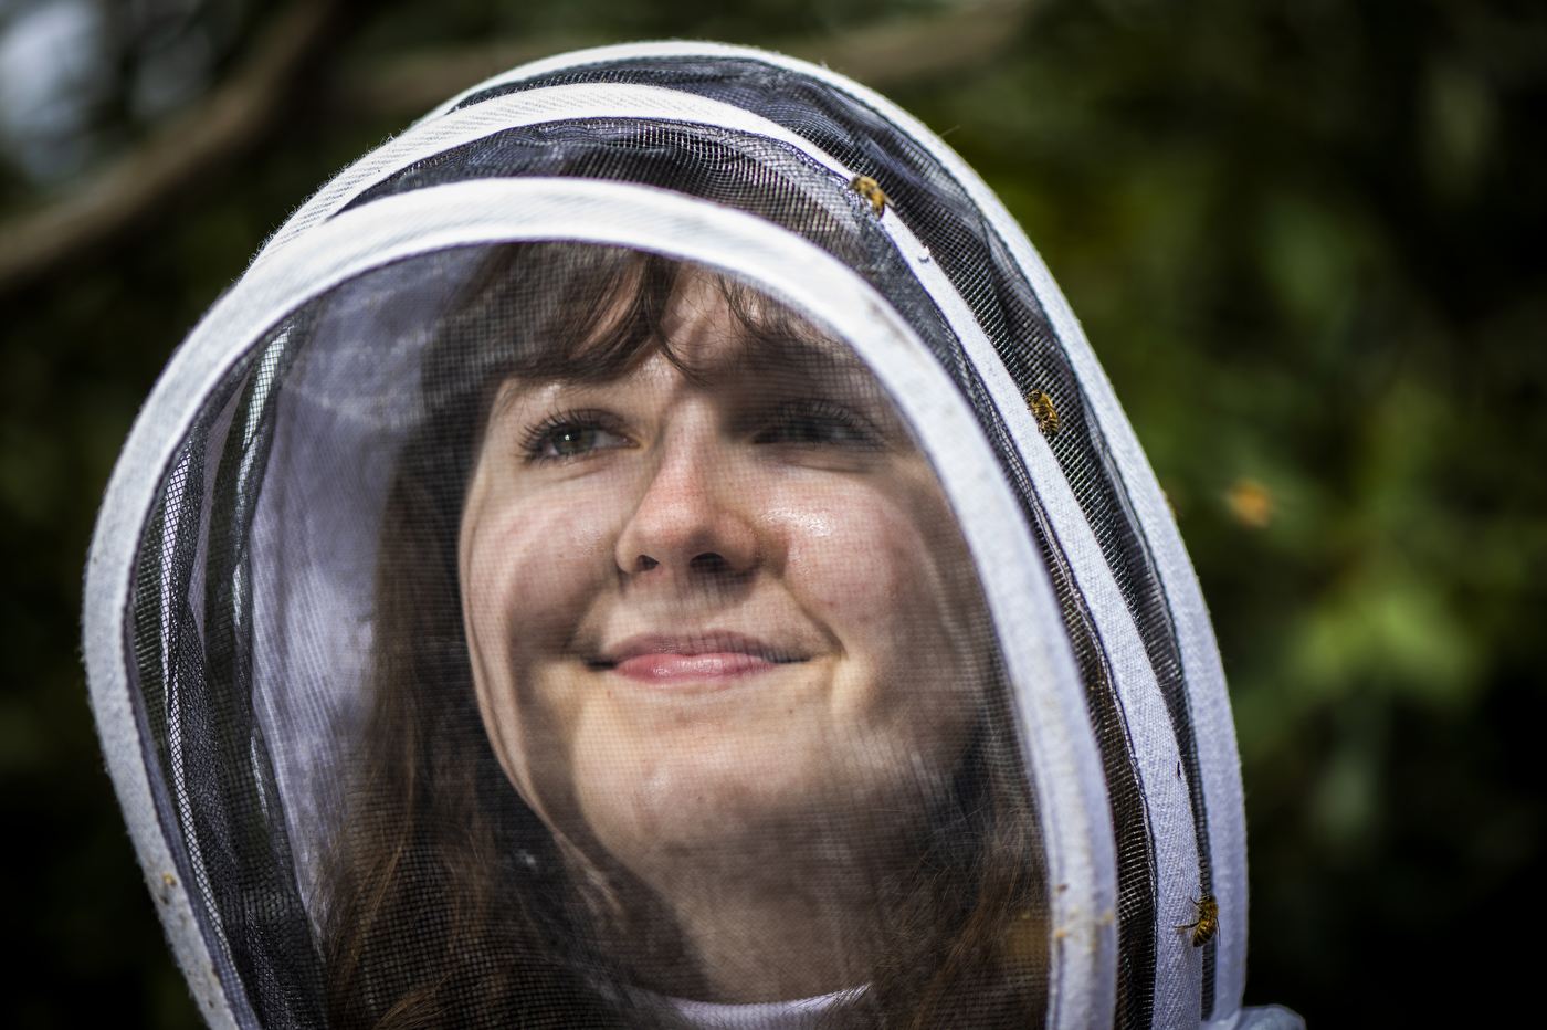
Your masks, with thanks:
M865 367L722 277L575 244L492 255L438 337L385 515L334 1025L842 991L804 1010L1040 1021L981 594Z

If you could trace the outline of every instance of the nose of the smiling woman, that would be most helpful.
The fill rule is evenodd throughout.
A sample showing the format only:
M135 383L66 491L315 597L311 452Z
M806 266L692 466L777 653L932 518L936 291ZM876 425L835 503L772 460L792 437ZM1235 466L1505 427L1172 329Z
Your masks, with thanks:
M687 430L662 444L644 496L619 534L623 572L726 575L758 560L758 535L730 455L710 430Z

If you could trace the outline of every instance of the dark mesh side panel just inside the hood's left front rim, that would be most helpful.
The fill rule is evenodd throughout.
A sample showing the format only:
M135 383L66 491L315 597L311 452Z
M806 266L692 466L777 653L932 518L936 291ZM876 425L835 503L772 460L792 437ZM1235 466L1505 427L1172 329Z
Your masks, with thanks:
M322 984L252 697L249 532L294 326L243 360L179 448L136 557L147 767L212 959L265 1027L320 1027ZM181 852L176 852L181 844Z

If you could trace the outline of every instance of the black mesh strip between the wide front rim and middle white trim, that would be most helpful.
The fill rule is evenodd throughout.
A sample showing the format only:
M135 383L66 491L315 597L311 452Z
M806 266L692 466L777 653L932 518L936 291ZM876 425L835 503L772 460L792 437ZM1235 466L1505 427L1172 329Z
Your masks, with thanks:
M868 170L883 175L877 169ZM1118 916L1123 928L1120 974L1123 977L1122 998L1128 1005L1125 1025L1148 1025L1149 991L1154 979L1154 854L1137 762L1120 718L1106 657L1095 643L1091 616L1047 527L1046 515L1036 500L1024 462L1015 450L993 401L987 396L959 342L945 328L934 302L908 271L902 257L896 254L890 237L874 224L868 203L849 190L848 182L775 141L712 127L616 119L557 122L507 130L416 162L364 192L351 206L439 182L487 176L623 179L702 196L769 218L801 232L860 271L920 333L978 413L984 431L1015 486L1027 521L1036 534L1038 544L1052 571L1060 603L1064 608L1075 654L1091 691L1092 721L1101 741L1114 824L1118 834ZM885 182L890 195L894 189L894 178L886 176ZM899 210L903 209L899 207ZM962 198L962 210L975 210L965 198ZM846 215L842 218L842 224L832 212ZM907 213L903 217L907 218ZM939 244L941 232L934 224L919 226L911 221L911 227L930 241L931 254L937 255L942 268L953 275L958 286L962 285L962 277L968 271L976 272L979 278L993 277L993 281L987 285L973 285L973 291L965 295L975 302L973 309L981 323L989 329L999 353L1009 359L1012 374L1021 390L1024 393L1044 390L1054 396L1063 419L1063 428L1054 436L1055 453L1066 472L1071 473L1071 486L1074 486L1086 513L1092 515L1094 512L1100 517L1092 518L1092 526L1103 554L1108 555L1108 560L1112 560L1114 555L1118 558L1114 563L1114 571L1125 597L1132 603L1137 591L1137 595L1148 599L1151 605L1151 633L1146 634L1146 642L1154 645L1154 634L1160 634L1159 640L1174 648L1170 636L1170 617L1159 592L1159 583L1153 578L1154 571L1149 568L1148 552L1137 543L1139 538L1132 529L1132 515L1126 510L1122 484L1117 481L1115 469L1106 455L1105 442L1088 418L1084 399L1072 371L1061 351L1050 343L1052 334L1046 328L1035 300L1024 285L1018 289L1012 289L1009 285L1019 283L1019 280L1012 280L1006 271L1012 266L1002 251L996 255L999 261L985 268L976 266L964 257L951 260L953 255L961 255L967 247L959 243L942 247ZM996 243L996 238L993 241ZM996 292L990 292L990 289ZM985 309L992 312L992 317L984 315ZM1012 328L1016 325L1021 333L1012 336ZM1030 340L1032 343L1007 345L1006 340L1010 339ZM1120 504L1122 507L1118 507ZM1132 566L1126 560L1131 554L1143 561L1142 575L1149 578L1134 578ZM1148 592L1143 592L1140 586L1148 588ZM1170 654L1173 654L1171 674L1177 677L1177 682L1173 684L1176 690L1168 693L1168 699L1180 697L1180 704L1185 705L1185 696L1176 693L1182 690L1180 665L1174 660L1174 650ZM1166 682L1163 671L1157 670L1157 676ZM1185 711L1180 715L1180 721L1190 735L1191 724ZM1187 739L1190 741L1191 736ZM1196 753L1193 761L1196 762Z

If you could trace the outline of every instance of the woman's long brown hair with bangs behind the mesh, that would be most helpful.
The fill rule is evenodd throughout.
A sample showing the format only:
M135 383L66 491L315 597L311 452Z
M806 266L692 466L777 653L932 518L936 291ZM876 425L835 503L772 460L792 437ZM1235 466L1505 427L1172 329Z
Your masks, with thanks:
M419 428L381 529L374 707L323 877L333 1027L674 1022L627 987L552 835L495 759L464 643L456 541L498 385L606 380L650 353L674 362L661 326L679 278L676 261L636 251L497 247L427 348ZM755 336L797 331L752 291L722 289ZM990 691L948 804L891 885L883 959L825 1025L1041 1025L1046 878L1012 727L1006 691Z

